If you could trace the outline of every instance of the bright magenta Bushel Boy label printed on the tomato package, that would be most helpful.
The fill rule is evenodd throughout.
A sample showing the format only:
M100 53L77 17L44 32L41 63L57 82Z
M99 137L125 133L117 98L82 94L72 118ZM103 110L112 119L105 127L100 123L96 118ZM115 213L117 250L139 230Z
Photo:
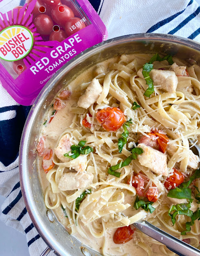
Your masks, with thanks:
M72 4L70 0L65 1ZM54 28L61 29L61 36L66 38L62 38L62 42L55 41L56 37L51 38L51 35L45 40L45 36L40 34L43 33L42 26L34 26L36 20L32 11L37 5L36 0L29 1L23 8L9 11L8 20L2 14L4 20L0 19L0 81L18 103L32 104L40 90L64 64L87 48L107 39L107 30L88 0L77 2L84 14L81 14L81 18L73 18L75 21L67 29L65 26L67 38L62 28L64 25L55 26L54 23ZM50 16L48 19L51 19ZM83 28L79 30L80 27Z

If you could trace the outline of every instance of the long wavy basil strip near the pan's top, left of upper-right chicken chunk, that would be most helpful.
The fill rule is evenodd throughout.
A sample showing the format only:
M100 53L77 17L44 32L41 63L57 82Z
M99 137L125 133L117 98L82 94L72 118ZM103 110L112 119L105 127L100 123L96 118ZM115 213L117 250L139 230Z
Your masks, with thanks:
M150 78L149 73L150 71L153 69L153 62L154 61L162 61L162 60L167 60L169 62L170 65L172 65L174 62L172 60L172 56L167 55L164 58L160 58L160 56L158 55L158 53L156 53L151 59L149 63L146 63L143 65L143 71L142 74L144 76L144 79L146 80L146 84L148 85L148 88L146 90L146 92L144 92L144 96L146 97L150 97L150 95L154 92L154 84L153 84L153 80Z

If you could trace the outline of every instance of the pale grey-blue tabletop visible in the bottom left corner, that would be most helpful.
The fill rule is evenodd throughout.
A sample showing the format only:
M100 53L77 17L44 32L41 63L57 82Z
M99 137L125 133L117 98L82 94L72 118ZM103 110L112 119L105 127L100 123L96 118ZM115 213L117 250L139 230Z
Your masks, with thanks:
M200 0L196 0L200 5ZM0 196L0 206L4 198ZM8 246L9 243L9 246ZM5 246L7 244L7 246ZM1 256L29 256L25 235L5 225L0 221ZM39 255L38 255L39 256Z

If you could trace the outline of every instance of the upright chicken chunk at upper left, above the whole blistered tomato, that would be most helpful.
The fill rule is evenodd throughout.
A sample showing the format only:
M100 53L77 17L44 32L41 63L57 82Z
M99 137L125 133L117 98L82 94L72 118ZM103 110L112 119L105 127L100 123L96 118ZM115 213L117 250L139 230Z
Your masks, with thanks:
M99 95L102 93L102 90L102 86L100 85L98 79L92 79L85 93L80 96L77 103L78 106L80 108L89 108L92 104L94 104L94 102L96 102Z

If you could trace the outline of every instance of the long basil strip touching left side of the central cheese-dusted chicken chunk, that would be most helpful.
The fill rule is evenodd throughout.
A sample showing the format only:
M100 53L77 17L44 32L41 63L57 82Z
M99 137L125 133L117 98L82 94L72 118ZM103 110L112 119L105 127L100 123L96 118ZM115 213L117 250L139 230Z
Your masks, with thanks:
M116 176L116 177L119 178L121 173L120 173L120 172L113 172L113 171L116 171L117 169L120 169L120 168L122 168L122 167L124 167L124 166L129 165L132 160L137 159L136 154L140 155L140 154L142 154L143 152L144 152L144 151L142 150L142 148L133 148L133 149L132 149L132 155L128 156L128 157L124 160L124 162L120 162L119 164L116 164L116 165L114 165L114 166L111 166L111 167L108 169L108 174L114 175L114 176Z

